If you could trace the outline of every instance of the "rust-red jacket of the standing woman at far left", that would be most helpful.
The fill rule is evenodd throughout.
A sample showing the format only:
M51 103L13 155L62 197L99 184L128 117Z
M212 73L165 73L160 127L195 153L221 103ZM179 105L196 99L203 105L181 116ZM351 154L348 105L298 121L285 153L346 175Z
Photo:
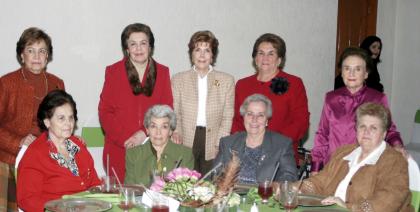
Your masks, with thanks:
M60 78L46 73L48 91L64 90ZM20 69L0 78L0 161L15 164L20 140L30 133L34 114L34 88L25 82Z

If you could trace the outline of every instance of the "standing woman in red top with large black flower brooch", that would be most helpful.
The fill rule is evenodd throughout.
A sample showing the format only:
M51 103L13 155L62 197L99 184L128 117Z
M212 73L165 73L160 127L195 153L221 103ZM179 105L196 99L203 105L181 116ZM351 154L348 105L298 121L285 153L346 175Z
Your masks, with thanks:
M255 93L263 94L273 103L273 116L268 121L268 129L292 139L296 158L299 141L309 127L305 86L299 77L283 71L286 43L278 35L261 35L255 41L252 58L257 72L236 83L232 133L245 131L239 111L244 99Z

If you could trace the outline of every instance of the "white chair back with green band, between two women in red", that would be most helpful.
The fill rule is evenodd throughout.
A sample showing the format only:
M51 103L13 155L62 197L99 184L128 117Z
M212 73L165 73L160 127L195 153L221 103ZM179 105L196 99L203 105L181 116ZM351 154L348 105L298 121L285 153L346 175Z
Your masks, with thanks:
M104 133L101 127L83 127L82 138L86 142L86 146L92 155L95 163L95 170L98 176L105 176L105 169L102 163L102 155L104 150Z

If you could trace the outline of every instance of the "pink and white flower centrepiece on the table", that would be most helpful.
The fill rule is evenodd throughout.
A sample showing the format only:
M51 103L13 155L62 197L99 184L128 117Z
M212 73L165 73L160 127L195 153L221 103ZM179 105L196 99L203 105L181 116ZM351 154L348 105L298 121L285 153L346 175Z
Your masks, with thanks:
M233 192L238 172L239 159L234 155L215 184L200 180L201 174L197 171L181 167L164 178L155 179L150 189L175 198L187 207L212 207L221 203L232 207L240 203L240 196Z

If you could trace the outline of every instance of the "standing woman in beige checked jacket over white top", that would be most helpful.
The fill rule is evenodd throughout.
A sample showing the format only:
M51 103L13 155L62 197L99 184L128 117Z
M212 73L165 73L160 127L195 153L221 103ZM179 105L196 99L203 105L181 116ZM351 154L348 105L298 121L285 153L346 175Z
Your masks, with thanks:
M192 67L172 78L178 120L173 138L193 148L194 169L213 166L219 140L229 135L233 117L234 79L213 69L219 42L210 31L198 31L188 44Z

